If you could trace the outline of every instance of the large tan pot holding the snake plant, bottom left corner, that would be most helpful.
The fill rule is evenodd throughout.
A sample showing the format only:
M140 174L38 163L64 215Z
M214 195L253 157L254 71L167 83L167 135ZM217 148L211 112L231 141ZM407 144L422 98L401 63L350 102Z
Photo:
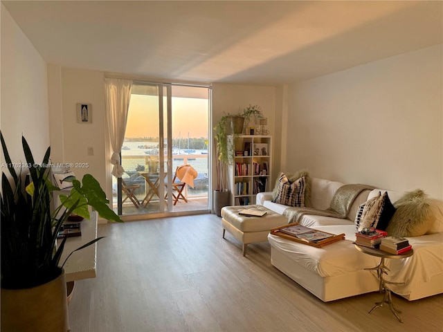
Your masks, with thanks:
M25 289L1 288L1 331L68 331L64 270L46 284Z

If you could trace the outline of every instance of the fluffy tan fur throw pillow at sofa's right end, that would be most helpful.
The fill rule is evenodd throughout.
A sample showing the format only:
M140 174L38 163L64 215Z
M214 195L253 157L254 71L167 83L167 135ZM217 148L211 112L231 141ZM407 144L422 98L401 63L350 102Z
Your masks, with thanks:
M433 214L423 190L406 192L394 203L395 214L386 231L396 237L419 237L431 229Z

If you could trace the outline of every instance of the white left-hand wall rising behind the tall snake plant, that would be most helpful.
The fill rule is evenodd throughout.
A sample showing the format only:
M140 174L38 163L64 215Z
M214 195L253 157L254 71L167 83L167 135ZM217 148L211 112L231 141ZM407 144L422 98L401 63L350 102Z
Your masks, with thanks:
M1 6L1 132L12 162L25 163L23 134L35 162L49 146L46 62ZM3 153L1 154L3 162ZM8 171L2 169L9 174Z

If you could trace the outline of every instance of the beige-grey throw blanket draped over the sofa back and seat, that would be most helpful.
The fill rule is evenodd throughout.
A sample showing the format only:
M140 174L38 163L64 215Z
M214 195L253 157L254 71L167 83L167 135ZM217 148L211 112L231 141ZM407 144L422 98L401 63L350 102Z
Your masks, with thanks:
M316 210L314 208L287 208L283 215L287 217L288 223L298 223L305 214L316 216L332 216L344 219L349 212L352 203L363 190L372 190L371 185L351 184L338 188L331 200L331 205L326 210Z

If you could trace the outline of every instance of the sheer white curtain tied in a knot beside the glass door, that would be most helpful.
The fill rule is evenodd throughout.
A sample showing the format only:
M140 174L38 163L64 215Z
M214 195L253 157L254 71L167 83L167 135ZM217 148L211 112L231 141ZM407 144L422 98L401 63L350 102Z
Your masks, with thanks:
M125 139L131 90L132 80L105 78L106 121L112 149L111 174L116 178L121 178L125 173L125 169L120 165L120 152Z

